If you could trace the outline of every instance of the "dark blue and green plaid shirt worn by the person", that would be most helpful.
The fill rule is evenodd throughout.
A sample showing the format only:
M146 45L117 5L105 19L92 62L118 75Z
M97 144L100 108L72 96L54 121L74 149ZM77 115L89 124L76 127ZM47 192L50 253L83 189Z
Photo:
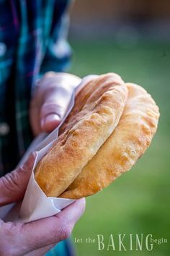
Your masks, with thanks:
M35 81L66 69L68 0L0 0L0 176L33 139L29 106Z

